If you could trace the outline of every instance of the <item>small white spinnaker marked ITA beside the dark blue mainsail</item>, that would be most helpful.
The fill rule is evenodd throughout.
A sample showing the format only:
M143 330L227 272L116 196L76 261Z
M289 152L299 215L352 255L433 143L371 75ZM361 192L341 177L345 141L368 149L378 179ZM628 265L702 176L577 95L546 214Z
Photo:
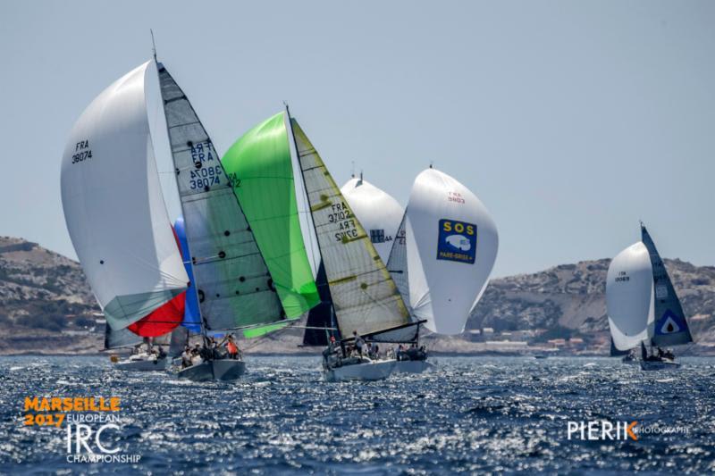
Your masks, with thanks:
M618 350L637 347L652 336L653 274L642 242L628 246L610 262L606 275L610 335Z

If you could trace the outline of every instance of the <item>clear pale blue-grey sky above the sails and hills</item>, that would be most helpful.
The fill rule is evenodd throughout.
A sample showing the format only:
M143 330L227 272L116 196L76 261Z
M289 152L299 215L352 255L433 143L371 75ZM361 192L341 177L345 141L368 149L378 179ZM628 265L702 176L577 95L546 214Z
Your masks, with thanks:
M220 154L282 101L341 185L433 163L492 213L494 276L640 238L715 264L715 2L0 2L0 235L76 257L70 129L151 55Z

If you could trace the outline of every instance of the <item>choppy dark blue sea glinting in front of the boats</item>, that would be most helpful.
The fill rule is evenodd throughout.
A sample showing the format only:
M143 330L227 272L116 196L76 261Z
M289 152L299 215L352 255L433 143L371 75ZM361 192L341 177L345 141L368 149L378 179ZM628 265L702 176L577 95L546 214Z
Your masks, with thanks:
M605 358L441 358L437 372L326 384L317 358L248 358L231 384L114 371L106 357L0 358L0 472L715 472L715 360L642 372ZM121 397L106 446L137 464L66 463L24 397ZM576 441L568 421L687 434Z

